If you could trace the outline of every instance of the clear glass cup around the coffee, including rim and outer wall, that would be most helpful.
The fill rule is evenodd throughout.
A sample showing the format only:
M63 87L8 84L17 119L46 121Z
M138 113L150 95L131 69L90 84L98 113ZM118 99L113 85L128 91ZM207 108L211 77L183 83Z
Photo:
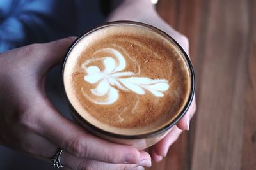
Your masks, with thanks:
M120 24L136 25L136 26L139 25L140 27L145 27L147 29L151 29L152 31L157 32L157 34L161 34L161 36L168 39L168 41L170 41L172 43L172 45L177 48L177 50L180 52L180 54L184 58L184 60L186 62L186 66L188 67L188 70L189 70L189 76L191 78L191 89L190 89L190 94L189 94L188 100L186 101L184 108L182 108L182 111L180 111L179 115L177 117L175 117L169 124L165 125L161 129L157 129L154 132L139 134L139 135L123 135L123 134L115 134L112 132L105 131L104 129L100 129L99 127L96 127L95 125L90 124L90 122L86 121L86 119L84 119L83 117L81 117L81 115L79 115L79 113L77 113L76 108L74 108L74 106L72 106L72 104L70 103L70 101L68 99L67 93L65 92L64 81L63 81L65 62L69 56L69 53L72 51L74 46L77 45L77 42L79 42L85 36L87 36L88 34L91 34L94 31L97 31L99 29L104 29L105 27L109 27L109 26L113 26L113 25L115 26L115 25L120 25ZM147 25L147 24L143 24L140 22L133 22L133 21L108 22L106 24L100 25L99 27L96 27L90 31L87 31L87 32L84 32L83 34L81 34L81 36L79 36L74 41L74 43L72 43L72 45L70 46L70 48L68 49L68 51L65 55L65 58L64 58L63 64L62 64L61 78L62 78L61 79L61 85L62 85L61 88L63 89L63 97L65 98L65 101L67 102L67 104L70 108L70 113L72 115L72 118L76 122L78 122L82 127L84 127L84 129L86 129L86 131L91 132L92 134L95 134L96 136L99 136L100 138L107 139L108 141L112 141L114 143L122 143L125 145L131 145L131 146L138 148L139 150L148 148L148 147L154 145L155 143L159 142L161 139L163 139L164 136L166 136L166 134L168 134L168 132L172 129L173 125L177 124L177 122L179 122L180 118L182 118L184 116L184 114L186 113L186 111L188 111L188 108L189 108L189 106L192 102L193 96L195 94L195 74L193 71L193 67L192 67L191 61L189 60L188 55L186 54L186 52L184 52L184 50L179 45L179 43L177 43L172 37L170 37L165 32L157 29L156 27L153 27L153 26Z

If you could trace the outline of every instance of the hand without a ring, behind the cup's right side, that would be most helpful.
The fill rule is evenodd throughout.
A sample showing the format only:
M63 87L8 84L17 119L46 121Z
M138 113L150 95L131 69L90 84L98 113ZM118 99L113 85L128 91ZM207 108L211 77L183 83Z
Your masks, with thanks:
M143 10L141 10L141 6ZM175 31L172 26L168 25L164 20L157 14L154 6L149 0L125 0L123 1L115 11L113 11L108 21L115 20L134 20L138 22L144 22L145 24L153 25L162 31L169 34L175 39L184 51L189 55L189 41L186 36ZM189 122L196 111L196 100L195 96L187 111L187 113L180 119L180 121L173 126L172 130L149 150L152 160L159 162L166 157L170 146L179 138L182 131L189 130Z

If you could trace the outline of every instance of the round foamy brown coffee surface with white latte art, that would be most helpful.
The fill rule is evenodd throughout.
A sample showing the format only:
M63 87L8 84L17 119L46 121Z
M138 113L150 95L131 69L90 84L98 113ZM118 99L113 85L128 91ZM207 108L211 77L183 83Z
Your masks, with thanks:
M191 80L179 48L139 25L109 25L83 36L63 74L72 106L90 124L116 134L144 134L172 121Z

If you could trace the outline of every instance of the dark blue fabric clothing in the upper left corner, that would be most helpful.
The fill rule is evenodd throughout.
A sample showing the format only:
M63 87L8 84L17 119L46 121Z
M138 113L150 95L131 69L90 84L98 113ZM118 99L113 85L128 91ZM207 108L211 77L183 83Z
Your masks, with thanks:
M0 52L77 36L102 22L99 0L0 0Z

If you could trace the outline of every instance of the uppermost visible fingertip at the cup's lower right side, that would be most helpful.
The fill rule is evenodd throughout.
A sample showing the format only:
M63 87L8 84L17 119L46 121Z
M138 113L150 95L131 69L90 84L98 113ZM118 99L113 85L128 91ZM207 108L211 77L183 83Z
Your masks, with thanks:
M196 102L195 102L195 96L193 97L193 101L187 111L187 113L180 119L180 121L177 123L177 127L181 130L189 130L189 123L193 115L195 115L196 111Z

